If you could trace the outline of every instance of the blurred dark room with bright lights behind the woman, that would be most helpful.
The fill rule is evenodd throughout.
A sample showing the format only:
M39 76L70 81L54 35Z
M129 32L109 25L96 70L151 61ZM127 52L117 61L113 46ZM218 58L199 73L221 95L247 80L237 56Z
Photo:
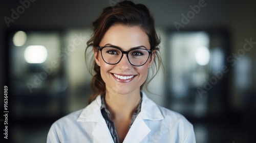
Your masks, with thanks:
M92 76L84 51L91 23L117 2L0 2L0 86L9 91L9 142L46 142L53 122L88 105ZM148 97L183 114L199 143L253 142L256 2L134 2L151 10L162 40L165 70L148 85ZM3 138L2 120L0 126Z

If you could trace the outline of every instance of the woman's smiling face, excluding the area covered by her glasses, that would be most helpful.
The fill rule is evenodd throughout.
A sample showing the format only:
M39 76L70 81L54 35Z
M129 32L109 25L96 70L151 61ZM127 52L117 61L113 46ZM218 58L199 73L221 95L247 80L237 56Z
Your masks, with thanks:
M114 25L110 27L99 43L101 47L109 45L118 46L122 51L129 51L138 46L144 46L150 50L150 42L146 33L137 26ZM144 49L144 47L140 48ZM119 63L111 65L104 62L100 51L94 51L94 54L95 61L100 66L100 73L105 82L106 90L112 90L118 94L138 93L140 86L146 80L148 68L154 59L154 54L152 54L144 65L134 66L124 54Z

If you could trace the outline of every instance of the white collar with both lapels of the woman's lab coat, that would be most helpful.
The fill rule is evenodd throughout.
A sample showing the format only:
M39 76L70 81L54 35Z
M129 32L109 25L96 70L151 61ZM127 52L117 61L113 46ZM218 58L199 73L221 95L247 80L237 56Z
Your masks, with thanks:
M142 95L141 111L124 138L124 143L140 142L148 133L151 132L151 129L146 125L144 120L157 121L163 120L164 118L158 106L152 100L148 99L144 92L142 92ZM106 140L111 140L111 142L114 142L109 128L101 115L100 107L101 98L98 96L96 100L88 105L88 107L83 109L77 119L77 122L97 122L92 132L94 142L106 142Z

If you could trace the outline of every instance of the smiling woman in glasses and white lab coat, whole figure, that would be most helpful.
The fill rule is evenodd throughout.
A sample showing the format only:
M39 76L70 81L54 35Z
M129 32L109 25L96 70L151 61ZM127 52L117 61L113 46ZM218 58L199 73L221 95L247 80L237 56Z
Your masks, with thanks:
M89 105L55 122L47 142L196 142L184 116L140 90L151 66L158 70L161 63L148 9L123 1L105 8L93 26L87 50L93 47L96 74Z

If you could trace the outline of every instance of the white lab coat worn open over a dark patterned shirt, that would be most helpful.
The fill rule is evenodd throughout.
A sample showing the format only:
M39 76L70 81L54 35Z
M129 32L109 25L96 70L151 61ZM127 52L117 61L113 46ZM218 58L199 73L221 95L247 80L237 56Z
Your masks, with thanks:
M60 118L50 128L47 142L114 143L100 106L101 98L98 96L86 108ZM156 105L143 93L141 111L123 142L194 143L196 139L193 125L183 115Z

